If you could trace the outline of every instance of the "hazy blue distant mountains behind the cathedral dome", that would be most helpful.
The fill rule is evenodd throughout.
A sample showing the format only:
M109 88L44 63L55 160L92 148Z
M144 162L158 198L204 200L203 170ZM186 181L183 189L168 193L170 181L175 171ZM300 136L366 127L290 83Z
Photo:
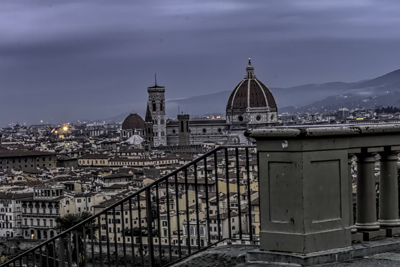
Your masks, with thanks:
M268 81L267 81L268 85ZM232 87L233 90L234 87ZM192 116L204 113L225 113L226 101L232 90L198 95L166 102L169 117L176 117L178 106ZM400 69L380 77L354 83L310 83L289 88L270 87L276 98L279 112L296 112L306 109L334 111L338 107L374 107L374 105L400 106ZM112 120L123 120L129 112Z

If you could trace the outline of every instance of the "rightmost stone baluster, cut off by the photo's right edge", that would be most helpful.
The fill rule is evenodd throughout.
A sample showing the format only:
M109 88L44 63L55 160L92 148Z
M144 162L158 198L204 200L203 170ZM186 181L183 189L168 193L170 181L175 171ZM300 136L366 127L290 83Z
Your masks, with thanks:
M400 233L398 206L397 154L386 147L380 152L379 219L378 223L386 229L386 235L398 236Z

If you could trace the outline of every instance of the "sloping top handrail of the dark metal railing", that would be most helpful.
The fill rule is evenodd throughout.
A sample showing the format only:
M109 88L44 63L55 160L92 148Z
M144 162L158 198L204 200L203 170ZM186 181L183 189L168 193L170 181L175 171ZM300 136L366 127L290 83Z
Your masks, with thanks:
M114 204L112 204L111 206L105 208L104 210L93 214L92 216L90 216L89 218L86 218L85 220L82 220L82 222L78 223L77 225L74 225L73 227L71 227L70 229L65 230L62 233L59 233L58 235L46 240L45 242L40 243L39 245L37 245L36 247L33 247L31 249L28 249L27 251L25 251L24 253L21 253L20 255L14 257L13 259L10 259L8 261L6 261L5 263L3 263L2 265L0 265L0 267L6 267L9 264L16 262L17 260L21 259L24 256L29 255L30 253L36 251L37 249L40 249L43 246L46 246L50 243L52 243L53 241L56 241L57 239L59 239L60 237L67 235L68 233L74 231L75 229L84 226L86 223L95 220L96 218L99 218L99 223L100 223L100 216L103 215L104 213L108 212L109 210L115 208L116 206L121 205L122 203L129 201L130 199L137 197L140 193L145 192L148 188L151 188L152 186L155 186L161 182L164 182L165 180L167 180L168 178L170 178L171 176L174 176L175 174L178 174L179 172L182 172L184 170L187 170L190 166L200 162L201 160L206 159L207 157L211 156L212 154L224 149L224 148L256 148L255 145L221 145L218 146L212 150L210 150L209 152L203 154L202 156L195 158L194 160L192 160L191 162L185 164L184 166L162 176L160 179L155 180L154 182L144 186L143 188L137 190L136 192L134 192L133 194L130 194L120 200L118 200L117 202L115 202ZM101 242L99 240L99 242Z

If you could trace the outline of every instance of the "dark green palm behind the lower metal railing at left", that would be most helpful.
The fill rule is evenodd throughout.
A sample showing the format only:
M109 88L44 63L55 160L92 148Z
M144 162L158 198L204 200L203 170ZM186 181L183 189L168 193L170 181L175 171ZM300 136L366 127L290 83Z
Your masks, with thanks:
M87 218L90 218L92 216L92 212L88 211L82 211L78 212L76 214L74 213L67 213L64 214L63 216L55 218L56 222L56 229L61 233L64 232L71 227L74 227L75 225L78 225L81 223L83 220L86 220ZM90 224L92 224L92 231L90 231ZM85 227L85 237L83 235L83 228ZM71 255L72 261L76 263L76 256L78 254L78 259L79 259L79 266L84 266L85 263L85 256L84 256L84 250L86 249L84 247L84 239L86 240L93 240L94 242L98 241L98 238L96 237L96 231L98 230L98 224L96 224L96 220L88 221L84 225L80 225L77 227L74 231L71 231L68 233L67 238L64 239L64 247L68 248L68 239L71 240ZM78 248L76 247L76 243L78 243Z

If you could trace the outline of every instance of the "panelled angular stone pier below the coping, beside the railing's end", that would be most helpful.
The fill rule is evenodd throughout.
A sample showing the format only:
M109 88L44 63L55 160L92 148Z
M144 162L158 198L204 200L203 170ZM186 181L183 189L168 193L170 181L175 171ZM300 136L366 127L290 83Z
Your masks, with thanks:
M254 138L260 249L311 253L350 246L348 139Z

